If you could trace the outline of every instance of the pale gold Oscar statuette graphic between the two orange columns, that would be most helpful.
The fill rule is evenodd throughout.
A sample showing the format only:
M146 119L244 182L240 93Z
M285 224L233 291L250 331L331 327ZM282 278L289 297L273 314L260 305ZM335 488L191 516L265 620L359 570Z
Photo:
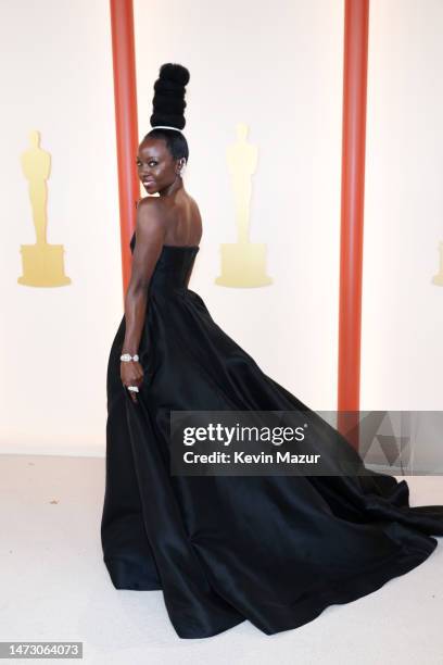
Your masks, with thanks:
M215 284L230 287L260 287L273 284L266 275L266 244L249 239L252 175L257 165L258 150L249 143L248 125L238 123L237 141L227 149L237 223L237 242L221 244L221 275Z

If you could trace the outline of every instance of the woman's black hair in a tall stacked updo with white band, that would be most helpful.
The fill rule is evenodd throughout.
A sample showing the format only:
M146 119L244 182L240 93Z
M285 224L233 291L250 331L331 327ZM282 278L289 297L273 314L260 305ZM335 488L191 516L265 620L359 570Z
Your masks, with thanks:
M152 126L168 125L182 129L186 125L185 118L185 87L189 83L189 71L180 64L165 63L160 67L159 78L154 84L154 97L152 100L153 113L150 117ZM148 138L163 139L175 160L189 159L188 141L181 131L175 129L151 129L144 136Z

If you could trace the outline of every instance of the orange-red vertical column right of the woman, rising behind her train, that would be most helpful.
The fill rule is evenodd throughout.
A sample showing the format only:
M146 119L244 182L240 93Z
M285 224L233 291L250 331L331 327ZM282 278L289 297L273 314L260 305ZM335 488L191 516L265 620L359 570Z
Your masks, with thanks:
M345 0L338 410L358 411L369 0ZM358 414L354 417L357 422ZM358 418L357 418L358 419ZM350 426L344 414L338 428ZM350 441L358 446L358 431Z

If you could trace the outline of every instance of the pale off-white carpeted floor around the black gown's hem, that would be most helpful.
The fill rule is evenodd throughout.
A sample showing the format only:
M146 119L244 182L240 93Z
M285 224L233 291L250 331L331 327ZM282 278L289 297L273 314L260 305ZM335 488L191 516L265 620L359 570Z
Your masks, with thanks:
M407 482L412 505L443 504L443 477ZM0 641L81 641L88 665L443 664L443 538L421 566L295 630L268 637L244 622L182 640L161 591L112 586L103 491L103 457L0 455Z

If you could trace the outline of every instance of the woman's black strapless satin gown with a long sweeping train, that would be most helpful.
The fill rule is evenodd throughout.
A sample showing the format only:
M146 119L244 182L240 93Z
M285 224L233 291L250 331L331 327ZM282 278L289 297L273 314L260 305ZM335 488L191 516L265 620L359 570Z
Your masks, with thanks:
M163 247L139 347L138 404L119 378L125 317L112 344L103 560L116 589L163 590L180 638L245 619L273 635L425 562L438 544L432 536L443 536L443 506L410 507L406 481L381 474L170 476L170 410L308 409L186 288L198 251ZM352 448L331 432L325 423L319 446Z

